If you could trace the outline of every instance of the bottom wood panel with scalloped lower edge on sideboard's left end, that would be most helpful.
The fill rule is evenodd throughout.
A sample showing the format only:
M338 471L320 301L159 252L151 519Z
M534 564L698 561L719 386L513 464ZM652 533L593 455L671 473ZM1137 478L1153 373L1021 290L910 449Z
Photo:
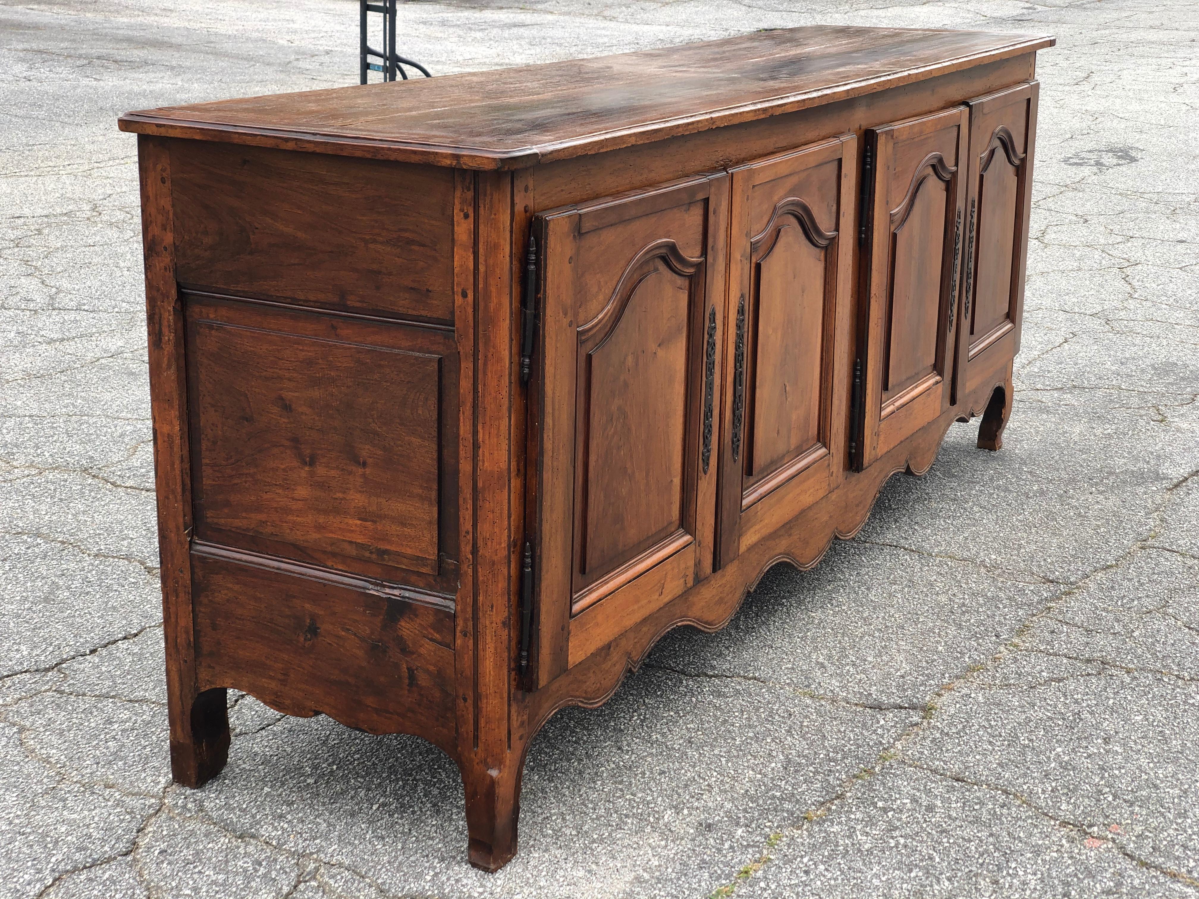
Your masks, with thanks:
M199 688L452 749L453 610L269 559L192 553ZM415 599L415 601L414 601Z

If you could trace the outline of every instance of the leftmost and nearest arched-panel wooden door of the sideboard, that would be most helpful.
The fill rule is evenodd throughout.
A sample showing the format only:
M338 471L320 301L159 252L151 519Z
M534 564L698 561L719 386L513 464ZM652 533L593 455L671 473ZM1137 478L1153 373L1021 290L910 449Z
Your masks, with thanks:
M541 216L537 681L712 571L728 176Z

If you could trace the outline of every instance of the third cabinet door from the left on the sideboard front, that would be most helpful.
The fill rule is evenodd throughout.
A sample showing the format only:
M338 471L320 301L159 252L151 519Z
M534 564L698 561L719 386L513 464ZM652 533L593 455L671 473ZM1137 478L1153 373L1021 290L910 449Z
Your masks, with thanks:
M959 105L867 131L863 466L951 403L966 122Z

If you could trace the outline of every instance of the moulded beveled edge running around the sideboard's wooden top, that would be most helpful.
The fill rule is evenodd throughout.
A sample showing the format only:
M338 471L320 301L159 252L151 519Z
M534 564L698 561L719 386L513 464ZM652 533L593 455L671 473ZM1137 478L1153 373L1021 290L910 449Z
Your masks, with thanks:
M785 29L787 31L803 31L807 26ZM125 113L118 119L118 127L123 132L146 134L164 138L183 138L192 140L210 140L219 143L245 144L251 146L266 146L283 150L295 150L301 152L317 152L335 156L356 156L373 159L387 159L392 162L423 163L440 167L452 167L475 170L505 170L522 169L559 159L570 159L578 156L588 156L609 150L635 144L646 144L665 138L694 134L711 128L741 122L755 121L773 115L794 113L814 105L823 105L843 99L852 99L866 93L873 93L888 88L898 88L915 82L935 78L942 74L962 71L988 62L998 62L1013 56L1036 53L1037 50L1053 47L1058 43L1052 35L1031 34L1006 34L987 31L966 31L962 29L860 29L879 31L912 31L922 34L959 31L962 34L989 35L996 38L1008 38L1007 43L993 48L965 53L958 56L946 58L923 66L912 66L896 72L886 72L866 78L849 79L845 82L826 85L818 89L781 93L772 97L735 103L722 108L709 109L680 116L670 116L653 121L639 122L627 127L597 131L588 134L579 134L570 139L529 144L526 146L500 149L470 145L466 143L429 143L421 140L405 140L400 138L387 138L380 135L356 135L332 131L307 131L297 127L261 127L247 126L235 122L201 119L195 113L203 107L218 105L225 101L213 101L183 107L167 107L162 109L134 110ZM751 32L752 34L752 32ZM740 35L725 41L743 38ZM716 43L715 41L692 42ZM680 47L687 44L677 44ZM609 56L584 58L610 59L611 56L633 56L638 53L661 53L667 48L656 50L638 50L628 54L610 54ZM579 61L579 60L568 60ZM542 66L560 65L564 61L542 62L531 66L516 68L537 68ZM482 70L487 71L487 70ZM514 70L510 70L514 71ZM477 72L456 73L451 76L439 76L440 78L458 78L474 76ZM354 85L362 86L362 85ZM347 88L326 88L329 90L347 90ZM317 91L301 91L317 92ZM278 96L278 95L275 95ZM187 116L175 114L187 113Z

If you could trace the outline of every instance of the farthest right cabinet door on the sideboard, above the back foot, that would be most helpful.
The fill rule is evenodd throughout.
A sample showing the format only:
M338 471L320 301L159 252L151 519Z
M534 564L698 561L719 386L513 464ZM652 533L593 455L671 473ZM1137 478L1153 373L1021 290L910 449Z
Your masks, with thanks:
M1019 350L1037 89L1036 82L1023 84L968 104L966 261L957 354L958 382L968 392Z

